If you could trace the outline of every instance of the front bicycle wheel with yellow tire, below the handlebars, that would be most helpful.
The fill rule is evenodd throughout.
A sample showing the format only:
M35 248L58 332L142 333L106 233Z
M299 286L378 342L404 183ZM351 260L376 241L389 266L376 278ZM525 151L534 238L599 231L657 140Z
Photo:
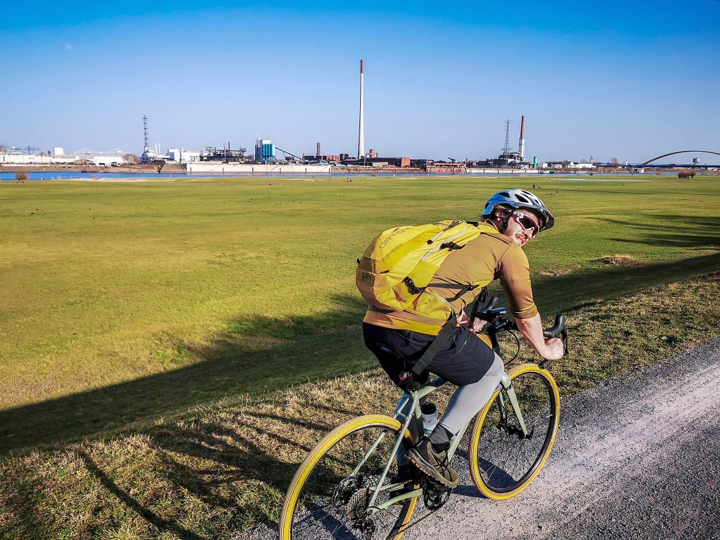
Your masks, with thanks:
M495 500L518 495L535 480L552 450L560 415L557 384L549 372L522 364L508 376L531 436L520 435L507 393L498 390L477 416L469 444L472 480L483 495ZM507 411L505 419L501 408Z

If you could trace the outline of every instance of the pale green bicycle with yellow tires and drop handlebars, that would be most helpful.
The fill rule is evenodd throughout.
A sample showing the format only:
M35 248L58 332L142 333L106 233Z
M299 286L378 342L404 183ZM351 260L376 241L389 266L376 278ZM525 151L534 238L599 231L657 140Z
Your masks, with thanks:
M492 297L472 317L487 321L483 333L500 356L498 334L512 334L518 328L514 320L503 317L506 310L495 307L497 302ZM561 337L567 351L564 315L557 315L544 336ZM469 436L470 474L487 498L502 500L526 489L552 450L560 400L548 364L521 364L505 372L498 390L475 416ZM445 382L436 377L405 392L392 418L359 416L325 436L290 483L280 517L280 540L400 540L418 498L431 511L441 508L451 488L415 467L409 480L398 477L396 457L400 446L413 446L423 433L420 401ZM408 403L412 414L403 414ZM449 459L468 427L469 423L451 441Z

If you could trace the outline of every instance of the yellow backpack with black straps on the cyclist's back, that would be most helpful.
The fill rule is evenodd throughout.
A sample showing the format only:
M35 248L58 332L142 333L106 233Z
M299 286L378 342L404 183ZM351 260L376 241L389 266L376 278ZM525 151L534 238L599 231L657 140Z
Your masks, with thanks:
M360 294L381 310L413 312L444 323L453 315L451 305L426 287L450 253L481 233L498 231L490 225L452 220L380 233L358 259L355 282ZM443 287L472 290L488 283Z

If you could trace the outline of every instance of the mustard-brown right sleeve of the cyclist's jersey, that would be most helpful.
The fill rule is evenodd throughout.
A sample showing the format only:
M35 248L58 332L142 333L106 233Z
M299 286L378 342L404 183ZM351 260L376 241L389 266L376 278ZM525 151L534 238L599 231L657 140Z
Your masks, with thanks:
M508 308L516 319L530 319L538 313L530 284L530 265L525 252L513 243L498 263L498 278L508 297Z

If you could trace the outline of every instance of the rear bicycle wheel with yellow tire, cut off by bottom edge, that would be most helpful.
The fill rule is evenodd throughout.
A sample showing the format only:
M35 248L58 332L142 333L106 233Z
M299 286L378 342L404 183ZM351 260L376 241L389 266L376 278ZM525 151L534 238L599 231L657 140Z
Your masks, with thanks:
M290 483L280 516L280 540L354 538L400 540L413 516L417 498L404 500L376 513L372 518L376 524L372 536L363 536L354 529L348 516L352 511L351 505L354 504L354 499L364 496L361 492L364 488L354 492L350 500L339 507L337 503L333 503L332 498L340 483L348 480L348 475L361 461L372 441L380 433L386 433L374 454L361 469L364 471L363 482L369 484L366 487L372 492L374 487L372 475L382 471L382 467L390 457L397 433L400 433L401 429L402 425L394 418L384 415L365 415L348 420L328 433L328 436L325 436L300 464ZM412 444L408 431L405 431L405 441L407 444ZM388 476L396 467L397 464L393 460ZM391 480L385 480L385 484L390 483ZM387 500L387 493L379 495L377 501L382 502L382 500ZM320 508L320 503L323 503L325 508Z

